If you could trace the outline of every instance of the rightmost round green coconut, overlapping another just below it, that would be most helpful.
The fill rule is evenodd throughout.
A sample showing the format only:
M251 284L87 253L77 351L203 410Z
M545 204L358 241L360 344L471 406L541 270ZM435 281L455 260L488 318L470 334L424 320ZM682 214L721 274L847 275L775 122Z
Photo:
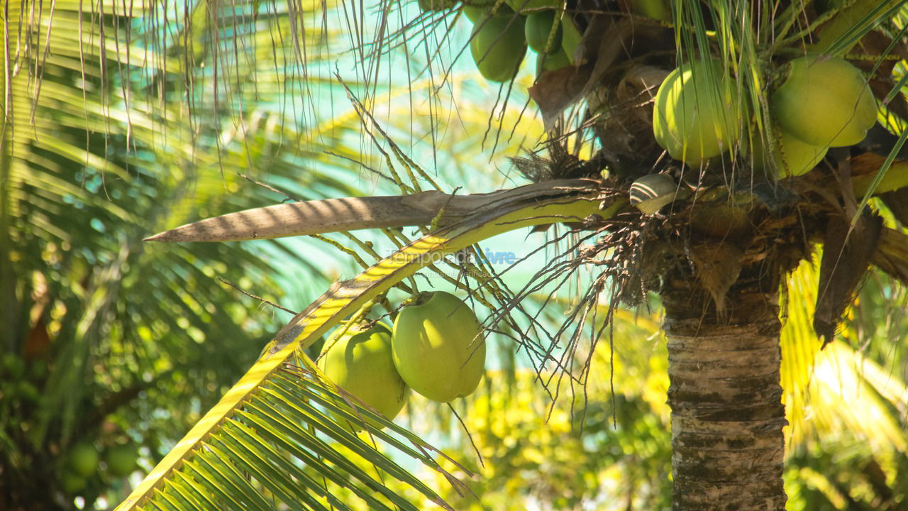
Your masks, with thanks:
M769 105L785 131L821 147L855 145L876 123L870 85L861 70L837 57L795 58Z

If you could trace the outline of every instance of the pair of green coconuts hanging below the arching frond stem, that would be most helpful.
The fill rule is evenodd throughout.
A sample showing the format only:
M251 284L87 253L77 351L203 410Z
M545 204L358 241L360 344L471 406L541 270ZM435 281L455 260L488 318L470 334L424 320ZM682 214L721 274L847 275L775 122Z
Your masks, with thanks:
M439 403L469 396L486 363L479 320L444 291L411 298L392 328L381 323L341 328L325 346L319 359L325 376L389 420L407 403L410 389Z

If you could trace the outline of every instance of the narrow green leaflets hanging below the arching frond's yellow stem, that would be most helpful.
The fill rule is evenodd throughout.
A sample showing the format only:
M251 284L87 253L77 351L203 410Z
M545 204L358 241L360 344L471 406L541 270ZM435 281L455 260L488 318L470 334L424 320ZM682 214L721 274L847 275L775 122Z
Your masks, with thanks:
M267 379L255 372L244 377L238 385L260 376L256 391L219 421L217 431L205 438L192 458L173 469L150 502L134 508L170 504L190 509L271 509L268 501L274 498L291 508L348 509L332 495L331 486L339 486L373 509L417 509L386 489L385 476L444 506L428 486L377 450L376 442L438 468L429 455L433 449L365 407L353 412L344 398L321 384L302 364L311 362L291 357ZM226 415L220 407L212 411ZM367 440L340 426L364 419L386 424L390 432L376 430L367 422L371 437ZM124 503L129 504L129 500Z

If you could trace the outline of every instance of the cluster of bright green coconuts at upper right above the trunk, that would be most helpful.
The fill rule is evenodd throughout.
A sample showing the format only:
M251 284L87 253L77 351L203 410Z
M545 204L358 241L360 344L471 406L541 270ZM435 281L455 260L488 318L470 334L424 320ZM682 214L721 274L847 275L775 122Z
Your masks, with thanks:
M830 147L855 145L876 122L876 102L861 71L843 58L804 55L785 64L769 98L771 129L751 148L757 170L804 175ZM731 151L749 124L738 85L717 60L672 71L653 108L656 142L672 158L701 165Z

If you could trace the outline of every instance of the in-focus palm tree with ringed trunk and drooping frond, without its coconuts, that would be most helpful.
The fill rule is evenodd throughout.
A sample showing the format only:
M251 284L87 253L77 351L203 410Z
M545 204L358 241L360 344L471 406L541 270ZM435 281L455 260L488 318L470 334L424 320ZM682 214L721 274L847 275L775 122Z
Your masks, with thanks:
M338 486L369 506L412 508L403 496L386 491L381 484L386 476L400 479L443 506L431 488L402 470L392 457L380 454L375 443L380 441L442 470L436 458L427 454L429 446L390 424L390 433L370 428L370 442L351 436L324 410L350 420L355 420L354 414L379 417L364 409L351 412L331 383L322 381L303 350L346 316L368 314L373 302L391 312L386 293L393 286L415 290L415 280L407 279L431 264L427 255L469 251L490 235L559 223L573 229L568 236L558 236L569 248L540 271L535 282L514 293L498 279L480 281L474 286L473 299L503 311L493 318L495 322L518 332L538 333L536 338L520 337L528 351L538 356L539 364L570 370L571 366L560 363L566 359L548 356L548 344L564 341L578 346L584 325L596 324L594 311L601 296L609 296L613 306L635 305L644 292L657 292L666 307L673 507L784 508L779 288L785 274L808 257L816 243L823 243L814 326L829 339L847 298L870 263L904 278L904 236L883 227L865 205L874 187L894 175L895 184L887 183L888 193L894 195L881 196L881 200L903 219L897 206L899 168L892 167L903 138L877 130L878 134L852 149L830 151L811 172L787 179L776 179L779 169L774 165L779 164L773 163L769 150L763 155L771 162L765 165L769 170L755 170L750 148L760 141L765 147L779 144L766 92L775 89L776 78L782 81L785 64L804 54L807 45L812 51L854 55L877 64L865 71L885 114L886 127L897 131L904 117L903 100L898 88L889 97L896 85L890 65L894 59L885 57L901 55L902 2L815 6L762 2L690 6L678 2L670 9L671 19L666 19L665 9L660 15L658 9L646 11L638 4L644 3L556 5L565 32L573 30L574 35L584 37L577 51L568 55L570 65L544 70L529 91L550 128L549 157L518 165L534 184L495 195L431 191L416 195L421 184L434 185L434 181L385 136L371 114L380 105L375 88L384 50L406 46L409 41L406 31L390 32L386 24L411 11L380 5L375 45L364 44L361 26L350 23L354 53L361 59L362 87L368 93L357 100L357 112L363 129L386 148L385 168L405 196L253 210L189 225L156 239L231 240L406 225L424 226L423 235L407 242L398 233L386 231L402 245L398 253L360 276L332 286L284 326L246 376L136 488L123 508L268 508L271 499L294 507L345 508L347 504L331 491ZM520 12L527 6L511 7ZM293 12L294 8L279 14L295 20L300 13ZM242 17L236 15L242 9L231 9L231 19ZM267 14L252 9L246 11L251 24L256 16ZM200 25L222 14L205 12L208 14L199 16ZM419 15L415 23L410 24L410 18L404 21L424 30L422 27L432 23L456 24L457 15L459 5L446 5L438 14ZM647 15L663 19L654 21ZM369 18L357 11L350 19ZM520 23L521 18L510 15L510 19L508 23ZM206 28L210 34L222 35L221 26ZM242 31L233 29L231 34ZM217 47L220 39L212 39L211 46ZM190 45L184 46L185 55L194 55ZM302 55L306 47L296 43L298 53L293 55ZM450 52L458 53L456 48ZM224 58L224 62L238 65L242 60L233 62L220 55L213 55L210 62ZM427 60L431 62L437 55L429 52ZM653 136L652 106L647 101L659 83L653 81L654 76L665 76L696 55L721 62L713 73L735 77L735 95L742 98L735 106L754 113L740 116L746 122L735 120L735 137L748 143L735 145L729 155L704 165L690 165L690 160L683 164L663 155ZM477 60L481 63L482 55ZM303 62L280 65L296 69ZM208 77L218 83L216 74ZM501 97L510 97L510 85L501 90ZM662 143L666 145L665 140ZM679 150L684 153L685 148ZM883 156L876 157L873 151ZM676 151L670 149L669 153ZM608 173L603 175L606 168ZM660 181L645 178L654 174L663 177ZM865 177L868 174L875 179ZM842 178L842 184L831 176ZM672 180L669 188L674 189L653 189L656 183L668 183L666 178ZM873 183L867 185L867 181ZM647 191L643 185L649 185L655 203L646 202L647 197L641 195ZM857 197L860 204L855 189L863 192ZM628 205L628 194L637 208ZM341 213L326 215L326 208ZM298 225L275 223L274 215L295 215L301 221ZM369 245L360 245L360 250L368 252ZM520 307L526 296L563 282L565 274L587 265L598 268L597 278L580 294L579 305L563 326L550 335L539 333L535 325L521 327L521 315L532 317ZM594 330L591 345L595 346L602 332ZM585 381L588 371L588 365L580 366L570 377ZM326 437L335 443L325 443ZM350 458L359 461L348 463ZM357 463L373 468L363 469ZM373 491L387 500L376 498Z

